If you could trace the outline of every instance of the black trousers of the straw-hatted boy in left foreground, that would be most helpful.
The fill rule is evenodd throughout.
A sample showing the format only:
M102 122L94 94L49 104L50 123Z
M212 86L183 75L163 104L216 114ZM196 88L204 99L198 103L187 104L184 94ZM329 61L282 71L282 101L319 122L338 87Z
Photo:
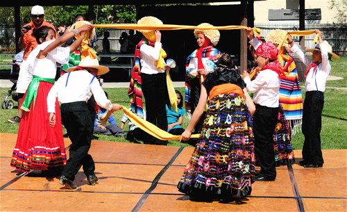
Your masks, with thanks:
M61 113L62 124L67 129L67 135L72 142L69 148L69 159L62 175L74 181L81 166L83 166L83 172L86 176L94 174L94 160L88 154L94 127L90 108L85 101L76 101L62 104Z

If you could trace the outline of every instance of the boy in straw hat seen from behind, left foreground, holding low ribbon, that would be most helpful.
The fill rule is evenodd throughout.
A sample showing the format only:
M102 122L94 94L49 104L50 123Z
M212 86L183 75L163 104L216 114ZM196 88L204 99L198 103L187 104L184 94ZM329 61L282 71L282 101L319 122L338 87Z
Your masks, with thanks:
M94 174L95 164L88 151L92 142L94 127L94 116L87 106L87 101L93 95L96 104L108 111L118 111L121 109L119 104L112 104L106 97L101 88L96 75L105 74L109 71L108 67L99 65L96 59L89 56L81 60L76 67L70 67L67 74L58 79L49 91L47 97L47 107L49 124L56 124L56 115L54 102L58 97L60 102L60 111L62 115L62 124L67 129L67 134L72 142L69 148L69 160L62 171L60 184L74 189L75 175L83 165L83 172L91 185L95 185L98 178Z

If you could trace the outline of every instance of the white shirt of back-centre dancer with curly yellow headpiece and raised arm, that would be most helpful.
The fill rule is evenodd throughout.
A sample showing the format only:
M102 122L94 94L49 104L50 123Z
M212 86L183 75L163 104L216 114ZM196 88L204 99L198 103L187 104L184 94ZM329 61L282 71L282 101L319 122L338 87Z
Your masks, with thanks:
M139 58L141 63L141 73L158 74L164 73L164 70L157 68L157 60L162 49L161 42L155 42L154 47L147 44L142 44L139 48ZM162 59L164 61L164 59ZM164 63L165 64L165 63Z

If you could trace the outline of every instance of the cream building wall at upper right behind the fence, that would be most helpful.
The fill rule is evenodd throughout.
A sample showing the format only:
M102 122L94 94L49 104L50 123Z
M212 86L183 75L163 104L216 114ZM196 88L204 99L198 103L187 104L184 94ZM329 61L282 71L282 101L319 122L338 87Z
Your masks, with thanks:
M299 0L263 0L263 1L254 1L254 15L255 15L255 24L269 24L269 9L298 9ZM339 0L343 1L343 0ZM232 4L239 2L230 2ZM230 3L211 3L211 5L217 4L230 4ZM321 24L332 24L333 22L337 23L335 19L336 12L335 10L330 10L329 0L305 0L306 9L321 8ZM347 13L347 12L346 12ZM340 23L342 24L342 23Z

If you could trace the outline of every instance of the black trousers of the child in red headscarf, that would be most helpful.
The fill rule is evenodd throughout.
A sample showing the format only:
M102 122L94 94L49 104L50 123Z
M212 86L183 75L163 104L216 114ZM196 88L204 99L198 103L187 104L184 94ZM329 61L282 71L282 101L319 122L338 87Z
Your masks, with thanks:
M254 150L260 173L266 178L276 178L275 153L273 151L273 132L277 124L278 108L257 104L253 115Z

